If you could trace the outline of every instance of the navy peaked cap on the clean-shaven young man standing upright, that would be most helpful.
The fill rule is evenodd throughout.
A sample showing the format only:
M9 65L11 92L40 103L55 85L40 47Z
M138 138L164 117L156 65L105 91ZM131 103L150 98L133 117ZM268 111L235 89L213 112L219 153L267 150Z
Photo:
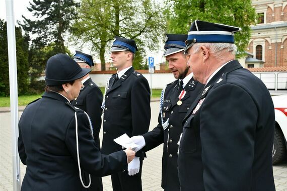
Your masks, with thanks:
M116 40L114 41L111 52L119 52L119 51L130 51L135 53L137 51L137 47L135 41L132 39L126 39L122 37L115 37Z

